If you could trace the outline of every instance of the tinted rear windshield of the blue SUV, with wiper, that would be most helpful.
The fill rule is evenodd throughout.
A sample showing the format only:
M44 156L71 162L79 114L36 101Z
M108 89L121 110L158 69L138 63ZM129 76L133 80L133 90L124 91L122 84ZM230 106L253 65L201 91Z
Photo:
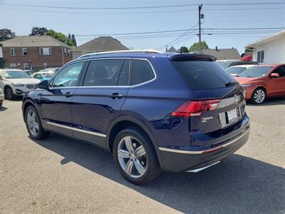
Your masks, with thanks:
M236 82L221 66L213 61L172 61L184 81L192 90L224 88Z

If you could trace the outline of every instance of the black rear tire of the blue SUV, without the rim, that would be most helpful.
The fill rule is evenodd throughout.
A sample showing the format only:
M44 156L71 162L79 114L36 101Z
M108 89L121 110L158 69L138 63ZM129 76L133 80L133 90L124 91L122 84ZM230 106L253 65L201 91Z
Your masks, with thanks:
M119 157L118 157L118 147L119 147L120 141L123 141L123 138L125 137L135 138L135 140L138 140L136 141L138 142L138 145L140 144L145 150L144 158L146 160L146 166L145 166L146 170L145 170L145 173L143 173L139 178L133 178L132 175L128 175L127 173L125 173L125 170L120 165ZM136 185L150 183L150 181L154 180L155 178L157 178L158 175L160 175L160 165L157 161L155 148L153 148L152 142L145 135L145 133L143 133L142 131L138 129L126 128L123 131L120 131L120 133L118 133L113 143L113 158L115 160L116 166L120 170L120 173L123 175L123 177L126 180L130 181L130 183L134 183ZM127 160L128 158L126 158L126 161ZM135 165L133 165L133 167L134 167L134 170L137 170L137 167Z

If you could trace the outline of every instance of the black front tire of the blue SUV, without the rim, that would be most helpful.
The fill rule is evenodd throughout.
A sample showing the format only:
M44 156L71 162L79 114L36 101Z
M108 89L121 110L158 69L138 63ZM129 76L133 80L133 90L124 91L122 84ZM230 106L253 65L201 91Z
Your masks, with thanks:
M28 127L28 113L30 113L31 111L33 111L33 113L36 114L36 118L37 118L36 120L38 123L38 132L36 133L32 133L32 131ZM42 140L44 138L47 138L50 134L50 132L43 130L43 126L41 126L41 119L40 119L40 116L38 115L38 111L36 111L36 108L34 108L33 106L28 106L28 108L26 108L25 123L26 123L26 128L28 130L28 134L31 136L31 138L35 140Z

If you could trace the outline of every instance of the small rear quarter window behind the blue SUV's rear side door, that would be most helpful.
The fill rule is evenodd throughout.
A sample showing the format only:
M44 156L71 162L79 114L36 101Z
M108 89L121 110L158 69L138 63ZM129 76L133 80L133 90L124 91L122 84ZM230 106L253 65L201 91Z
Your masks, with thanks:
M155 73L148 61L138 59L132 61L132 86L145 83L152 78L155 78Z

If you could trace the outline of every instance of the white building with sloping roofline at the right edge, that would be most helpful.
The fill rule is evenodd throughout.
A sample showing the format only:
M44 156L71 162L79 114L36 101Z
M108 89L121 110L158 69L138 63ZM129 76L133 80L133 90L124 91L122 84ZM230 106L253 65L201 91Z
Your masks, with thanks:
M285 63L285 30L247 44L252 49L253 61L259 63Z

